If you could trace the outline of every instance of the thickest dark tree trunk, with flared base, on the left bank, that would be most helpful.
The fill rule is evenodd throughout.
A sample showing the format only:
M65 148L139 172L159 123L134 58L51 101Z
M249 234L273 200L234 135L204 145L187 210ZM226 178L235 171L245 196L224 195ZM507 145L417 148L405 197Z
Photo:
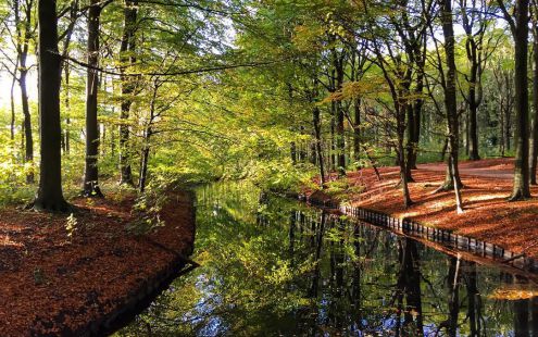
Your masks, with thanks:
M57 1L39 0L39 132L40 175L34 209L66 212L62 192L60 66Z

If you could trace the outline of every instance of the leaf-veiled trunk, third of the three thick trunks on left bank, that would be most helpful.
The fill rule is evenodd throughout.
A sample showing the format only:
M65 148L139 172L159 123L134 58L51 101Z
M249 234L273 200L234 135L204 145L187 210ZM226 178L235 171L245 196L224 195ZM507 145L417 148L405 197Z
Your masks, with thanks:
M135 33L137 26L138 1L125 1L124 9L124 30L122 36L122 45L120 47L120 59L122 65L133 65L135 63ZM120 184L135 186L133 183L133 171L130 168L130 154L128 149L129 126L128 118L130 105L133 104L133 95L135 93L136 84L134 79L125 75L125 70L122 67L122 111L120 125Z

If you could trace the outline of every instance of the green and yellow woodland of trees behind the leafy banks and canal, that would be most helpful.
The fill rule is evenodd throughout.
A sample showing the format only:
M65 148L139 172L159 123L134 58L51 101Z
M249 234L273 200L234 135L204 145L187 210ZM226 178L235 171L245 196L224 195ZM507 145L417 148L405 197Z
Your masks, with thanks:
M453 2L67 1L47 14L7 1L4 202L64 210L62 189L102 197L116 180L289 190L318 174L323 188L396 163L410 205L417 163L446 159L440 190L458 196L460 160L512 155L511 200L529 198L534 3Z

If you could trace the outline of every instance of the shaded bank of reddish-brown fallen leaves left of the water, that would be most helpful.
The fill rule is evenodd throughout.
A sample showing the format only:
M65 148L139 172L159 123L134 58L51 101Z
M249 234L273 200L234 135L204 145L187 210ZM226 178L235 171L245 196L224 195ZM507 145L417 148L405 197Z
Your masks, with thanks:
M116 312L191 252L191 198L171 195L146 235L127 230L134 197L72 200L72 236L67 215L0 210L0 336L78 335Z

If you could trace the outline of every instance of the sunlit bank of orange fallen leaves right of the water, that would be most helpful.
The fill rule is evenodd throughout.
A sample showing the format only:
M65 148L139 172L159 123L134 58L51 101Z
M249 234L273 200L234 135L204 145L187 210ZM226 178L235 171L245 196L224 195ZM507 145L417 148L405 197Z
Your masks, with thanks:
M414 203L409 209L403 208L401 187L397 186L400 179L397 167L380 167L380 180L372 168L349 172L349 188L334 198L538 258L538 187L531 187L534 198L508 202L513 159L465 161L459 167L465 186L463 214L455 212L453 191L435 192L445 179L443 163L423 164L413 171L415 182L409 187ZM321 198L327 197L322 195Z

